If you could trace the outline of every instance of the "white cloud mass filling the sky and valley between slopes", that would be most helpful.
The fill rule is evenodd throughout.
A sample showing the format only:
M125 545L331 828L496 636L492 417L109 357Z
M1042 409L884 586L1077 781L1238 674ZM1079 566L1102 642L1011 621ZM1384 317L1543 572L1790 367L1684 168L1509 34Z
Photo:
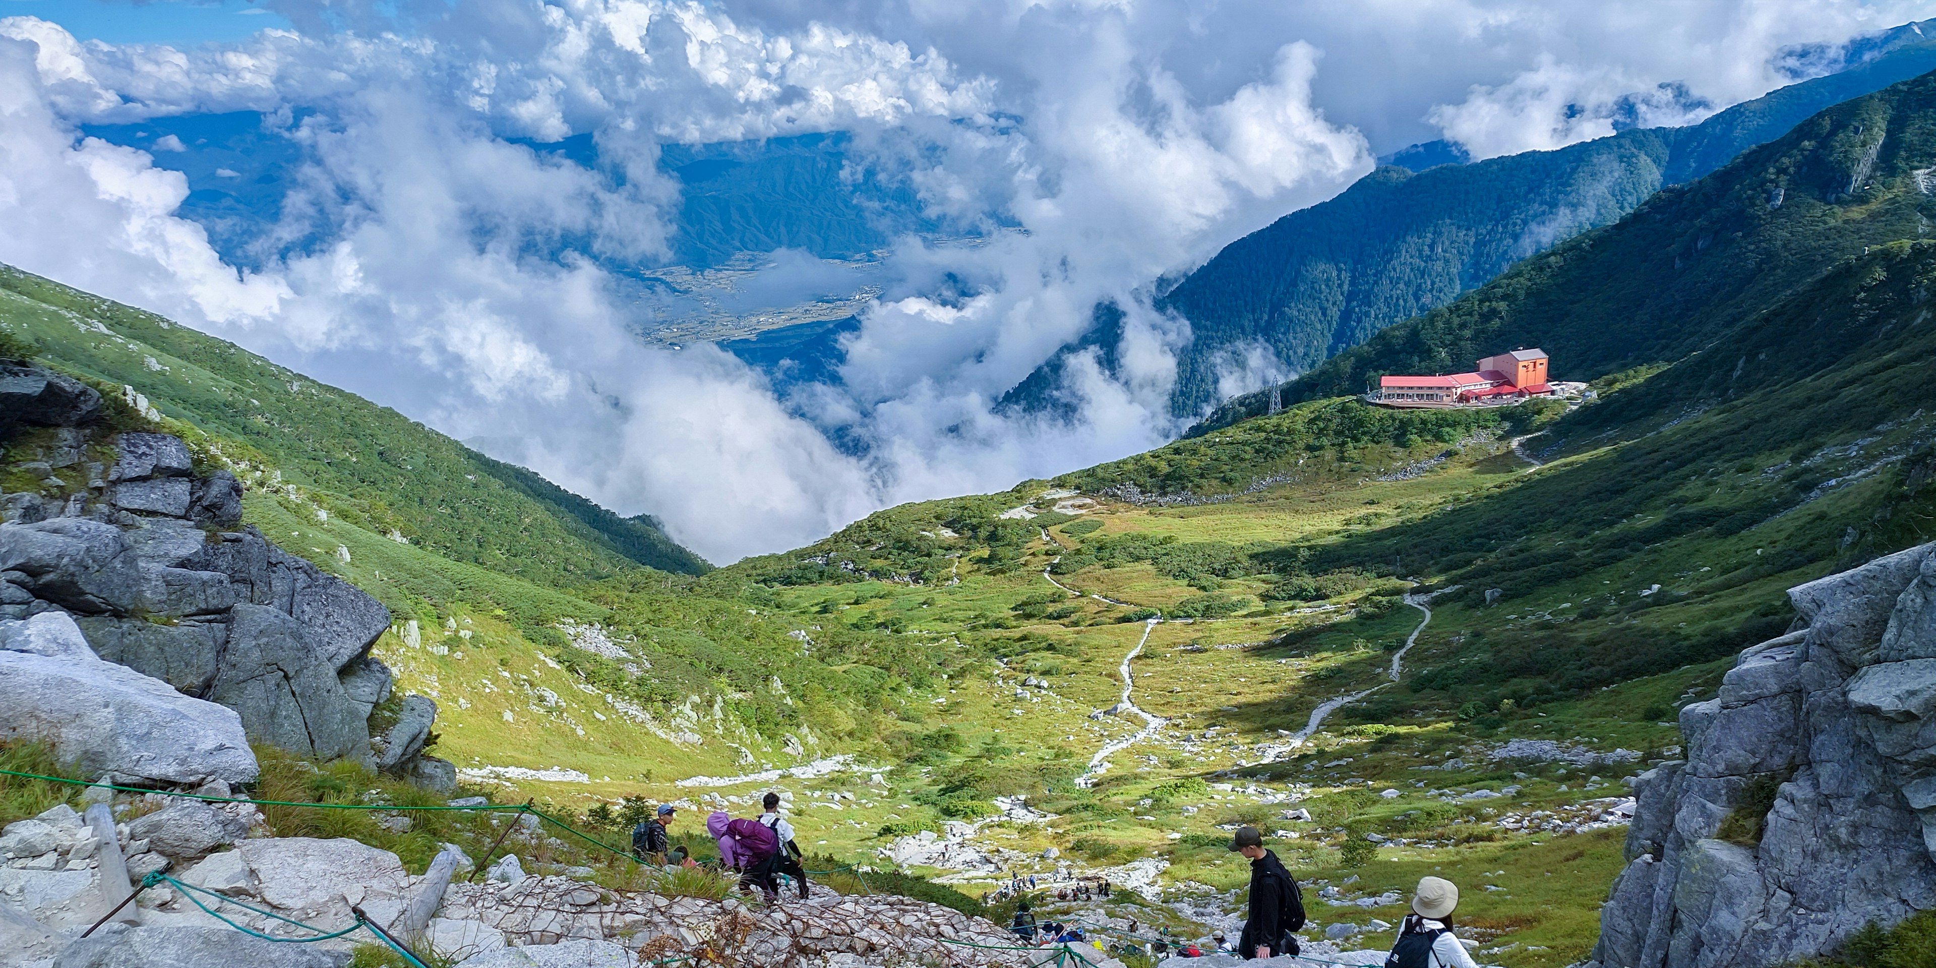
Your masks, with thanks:
M1173 436L1189 327L1150 287L1324 199L1375 151L1473 155L1671 124L1826 70L1909 4L844 4L271 0L296 31L194 50L0 19L0 261L178 318L525 463L714 561L887 503L1007 488ZM403 14L399 14L399 10ZM1795 45L1822 41L1820 48ZM81 124L257 110L302 163L248 269L182 174ZM922 213L838 383L776 395L639 339L614 267L670 257L660 145L850 132ZM530 141L589 134L585 166ZM170 147L157 143L166 153ZM1074 416L995 401L1125 312ZM1231 358L1224 383L1272 362Z

